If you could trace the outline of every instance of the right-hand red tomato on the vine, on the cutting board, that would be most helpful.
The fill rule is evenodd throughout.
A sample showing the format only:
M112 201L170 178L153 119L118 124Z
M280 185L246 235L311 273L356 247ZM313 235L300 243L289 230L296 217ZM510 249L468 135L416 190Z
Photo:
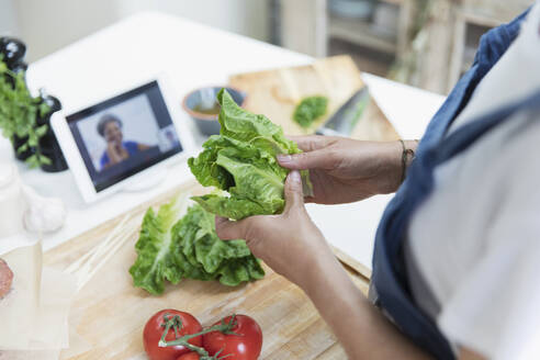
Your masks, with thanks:
M228 323L230 316L223 320ZM220 324L222 320L215 323ZM227 360L257 360L262 348L262 331L259 325L249 316L236 315L236 326L232 331L238 335L212 331L203 335L203 347L211 356L220 352L220 357L232 355Z

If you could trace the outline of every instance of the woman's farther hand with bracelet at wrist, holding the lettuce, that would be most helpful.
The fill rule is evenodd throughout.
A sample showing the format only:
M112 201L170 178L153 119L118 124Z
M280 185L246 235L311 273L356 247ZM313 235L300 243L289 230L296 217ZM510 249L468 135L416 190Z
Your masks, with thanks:
M308 169L313 198L319 204L349 203L397 190L402 181L400 142L361 142L337 136L291 137L304 151L279 155L288 169ZM416 143L407 147L416 147Z

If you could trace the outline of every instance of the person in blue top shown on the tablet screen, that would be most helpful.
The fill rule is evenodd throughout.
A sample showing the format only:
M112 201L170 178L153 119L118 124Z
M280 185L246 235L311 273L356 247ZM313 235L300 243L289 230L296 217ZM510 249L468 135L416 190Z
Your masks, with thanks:
M122 121L112 114L101 116L98 123L98 133L106 142L106 149L100 159L101 169L124 161L128 157L150 148L148 145L124 140Z

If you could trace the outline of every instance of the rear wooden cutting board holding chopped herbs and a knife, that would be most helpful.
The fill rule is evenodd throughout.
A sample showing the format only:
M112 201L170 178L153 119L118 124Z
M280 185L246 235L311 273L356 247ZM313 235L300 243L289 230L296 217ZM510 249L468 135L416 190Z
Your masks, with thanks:
M365 87L360 71L347 55L305 66L235 75L229 78L229 85L247 93L244 108L280 124L288 135L315 133L355 92ZM328 111L312 127L304 130L292 120L292 114L303 98L315 94L328 98ZM364 140L400 138L373 98L351 137Z

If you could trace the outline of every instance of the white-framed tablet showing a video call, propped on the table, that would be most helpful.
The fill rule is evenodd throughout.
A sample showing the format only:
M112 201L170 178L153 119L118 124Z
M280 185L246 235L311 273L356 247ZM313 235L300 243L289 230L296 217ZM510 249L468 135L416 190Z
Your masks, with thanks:
M156 173L150 170L192 153L187 119L178 117L170 97L160 77L74 113L54 114L53 130L85 201L144 182Z

